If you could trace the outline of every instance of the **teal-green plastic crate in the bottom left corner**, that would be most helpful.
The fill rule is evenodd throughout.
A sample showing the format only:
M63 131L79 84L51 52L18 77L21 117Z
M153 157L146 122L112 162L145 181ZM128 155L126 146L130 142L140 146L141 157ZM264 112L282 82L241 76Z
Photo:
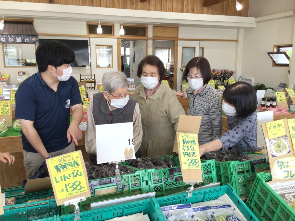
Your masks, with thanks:
M60 207L51 199L21 205L4 207L4 214L0 215L2 221L31 221L47 217L53 217L60 213Z

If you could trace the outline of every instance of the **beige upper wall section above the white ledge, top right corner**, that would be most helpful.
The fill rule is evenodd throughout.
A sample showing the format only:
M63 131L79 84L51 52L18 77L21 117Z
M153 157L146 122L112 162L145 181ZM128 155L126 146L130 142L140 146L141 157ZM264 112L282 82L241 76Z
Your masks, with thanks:
M249 17L262 17L295 9L294 0L250 0Z

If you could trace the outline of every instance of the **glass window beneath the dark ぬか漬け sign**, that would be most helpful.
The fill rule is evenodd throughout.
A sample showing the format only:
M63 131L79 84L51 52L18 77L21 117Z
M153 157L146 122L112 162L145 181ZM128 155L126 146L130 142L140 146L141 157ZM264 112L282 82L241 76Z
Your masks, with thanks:
M4 66L37 66L35 44L3 44Z

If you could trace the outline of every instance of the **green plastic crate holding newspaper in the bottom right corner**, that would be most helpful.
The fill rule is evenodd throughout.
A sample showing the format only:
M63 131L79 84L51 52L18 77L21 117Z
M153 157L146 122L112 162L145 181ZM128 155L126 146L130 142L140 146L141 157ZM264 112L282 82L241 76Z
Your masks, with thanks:
M266 182L270 173L258 173L246 202L260 221L294 221L295 211Z

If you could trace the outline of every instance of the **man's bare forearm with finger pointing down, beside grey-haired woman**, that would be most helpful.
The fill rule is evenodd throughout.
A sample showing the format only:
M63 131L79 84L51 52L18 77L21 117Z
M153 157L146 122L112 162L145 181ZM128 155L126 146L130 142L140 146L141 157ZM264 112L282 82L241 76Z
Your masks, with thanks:
M71 140L78 145L78 141L82 138L82 131L79 125L83 119L83 106L82 104L76 104L71 106L72 109L72 122L67 131L68 142Z

